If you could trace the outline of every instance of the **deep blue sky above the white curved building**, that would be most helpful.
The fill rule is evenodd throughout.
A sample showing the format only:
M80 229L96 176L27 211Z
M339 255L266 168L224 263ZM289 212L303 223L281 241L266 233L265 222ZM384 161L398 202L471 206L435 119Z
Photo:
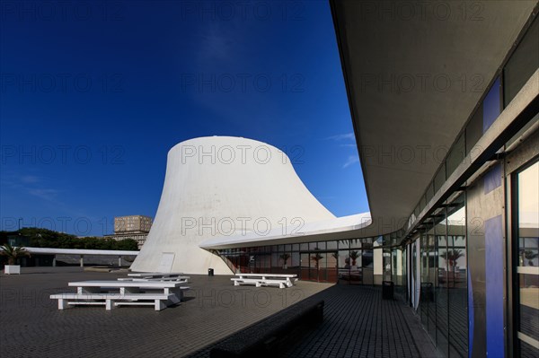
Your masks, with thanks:
M237 135L298 155L333 214L368 210L326 1L3 2L2 230L155 216L166 153Z

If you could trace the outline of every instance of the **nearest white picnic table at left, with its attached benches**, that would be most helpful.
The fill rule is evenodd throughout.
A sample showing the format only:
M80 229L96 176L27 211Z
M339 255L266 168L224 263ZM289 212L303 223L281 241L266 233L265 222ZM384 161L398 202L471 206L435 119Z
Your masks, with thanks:
M58 310L79 304L101 304L107 310L120 305L154 305L155 310L163 310L181 301L183 292L189 290L185 284L177 281L78 281L67 284L76 287L76 293L51 294L50 298L58 300Z

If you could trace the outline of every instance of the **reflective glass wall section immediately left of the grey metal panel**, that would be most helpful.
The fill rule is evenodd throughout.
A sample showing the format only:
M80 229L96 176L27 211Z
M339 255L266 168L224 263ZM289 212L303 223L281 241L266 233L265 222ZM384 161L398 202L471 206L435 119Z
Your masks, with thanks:
M440 352L468 356L465 195L441 205L420 232L420 320ZM412 246L413 247L413 246ZM412 256L413 258L413 256ZM410 266L413 270L413 266ZM413 300L411 298L411 305Z

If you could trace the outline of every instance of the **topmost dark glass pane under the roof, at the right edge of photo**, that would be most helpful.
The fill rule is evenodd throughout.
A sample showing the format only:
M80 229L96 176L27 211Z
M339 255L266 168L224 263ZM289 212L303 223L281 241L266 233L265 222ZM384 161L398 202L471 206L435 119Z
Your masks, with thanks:
M539 39L539 21L535 19L503 70L504 107L507 107L537 70L537 64L539 64L537 39Z

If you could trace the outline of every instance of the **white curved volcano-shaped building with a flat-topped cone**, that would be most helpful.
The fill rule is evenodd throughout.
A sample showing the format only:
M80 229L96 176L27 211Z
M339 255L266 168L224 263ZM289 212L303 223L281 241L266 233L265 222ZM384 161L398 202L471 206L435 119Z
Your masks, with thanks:
M292 236L331 219L278 148L231 136L191 139L168 153L155 222L131 269L230 274L202 241Z

